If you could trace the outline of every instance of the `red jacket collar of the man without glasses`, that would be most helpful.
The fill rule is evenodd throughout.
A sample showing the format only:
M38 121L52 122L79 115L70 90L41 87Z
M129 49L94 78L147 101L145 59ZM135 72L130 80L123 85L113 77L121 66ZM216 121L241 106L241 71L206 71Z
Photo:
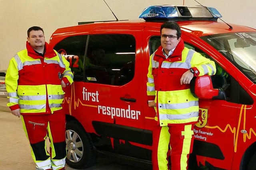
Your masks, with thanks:
M30 56L34 59L42 58L42 56L40 56L38 53L36 53L36 51L31 47L31 45L30 45L30 43L28 43L28 41L26 42L26 48L28 50L28 56ZM44 48L45 48L44 57L52 58L52 57L56 56L55 51L52 48L50 48L50 46L47 42L45 42Z

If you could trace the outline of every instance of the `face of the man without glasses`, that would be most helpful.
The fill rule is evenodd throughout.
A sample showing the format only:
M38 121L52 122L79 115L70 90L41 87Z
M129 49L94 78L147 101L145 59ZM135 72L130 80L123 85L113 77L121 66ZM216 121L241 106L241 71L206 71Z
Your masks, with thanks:
M38 47L44 47L45 37L44 33L41 30L32 30L29 33L29 37L27 38L27 40L34 49Z

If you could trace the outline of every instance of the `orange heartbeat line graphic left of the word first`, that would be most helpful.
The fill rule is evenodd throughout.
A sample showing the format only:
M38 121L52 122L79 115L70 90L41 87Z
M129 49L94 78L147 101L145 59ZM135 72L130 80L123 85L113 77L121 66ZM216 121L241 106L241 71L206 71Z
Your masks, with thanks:
M72 85L71 85L71 97L70 98L67 98L67 97L65 97L64 98L64 101L62 102L62 104L64 104L65 102L67 102L68 103L68 109L69 109L69 114L70 115L72 115L72 111L71 111L71 108L72 108L72 99L74 98L74 109L76 110L76 107L78 107L79 106L79 104L80 105L82 105L82 106L88 106L88 107L98 107L98 106L95 106L95 105L86 105L86 104L84 104L84 103L82 103L82 101L80 100L80 99L77 99L77 101L76 101L76 93L75 93L75 87L74 87L74 84L75 84L75 82L74 83L72 83Z

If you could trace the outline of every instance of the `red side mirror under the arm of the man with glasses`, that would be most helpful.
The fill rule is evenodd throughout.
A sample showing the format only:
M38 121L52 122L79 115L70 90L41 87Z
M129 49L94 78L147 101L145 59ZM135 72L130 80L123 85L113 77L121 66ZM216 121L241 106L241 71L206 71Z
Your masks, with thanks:
M190 82L190 91L199 99L220 99L226 100L223 89L214 89L212 79L209 75L194 77Z

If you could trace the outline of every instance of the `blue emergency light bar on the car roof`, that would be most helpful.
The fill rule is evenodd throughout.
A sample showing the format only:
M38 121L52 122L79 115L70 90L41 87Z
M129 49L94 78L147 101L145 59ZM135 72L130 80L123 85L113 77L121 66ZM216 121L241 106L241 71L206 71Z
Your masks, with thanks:
M215 8L204 6L148 6L139 18L148 21L164 20L214 20L222 17Z

